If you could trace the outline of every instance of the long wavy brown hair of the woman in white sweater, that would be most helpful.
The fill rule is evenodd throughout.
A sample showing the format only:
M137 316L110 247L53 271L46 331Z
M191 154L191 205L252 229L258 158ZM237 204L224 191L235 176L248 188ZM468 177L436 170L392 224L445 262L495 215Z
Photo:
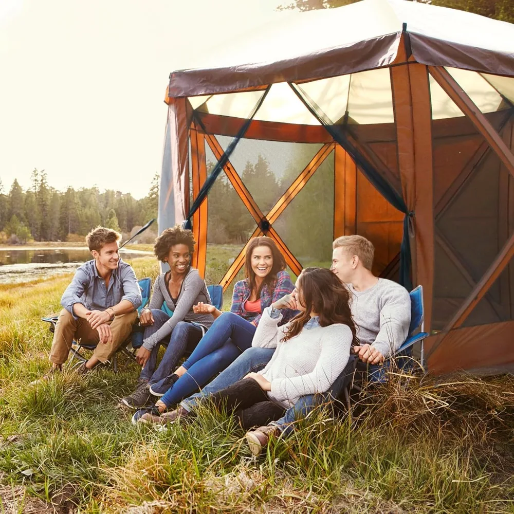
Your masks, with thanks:
M350 308L350 292L335 274L326 268L305 268L296 282L299 287L297 300L305 306L305 311L295 316L284 334L283 341L295 337L310 319L310 313L319 315L321 326L343 323L352 331L352 345L358 344L357 327ZM300 297L300 298L299 298Z

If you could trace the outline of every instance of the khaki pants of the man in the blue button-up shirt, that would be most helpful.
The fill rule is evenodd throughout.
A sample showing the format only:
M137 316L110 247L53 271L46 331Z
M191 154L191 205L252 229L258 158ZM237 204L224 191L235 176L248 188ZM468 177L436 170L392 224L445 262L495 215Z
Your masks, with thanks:
M100 336L97 330L93 330L89 323L83 319L75 319L63 309L59 313L56 324L56 331L53 334L52 348L50 350L50 361L54 364L63 364L68 358L71 343L75 339L83 344L96 344L94 356L100 362L108 361L118 350L119 346L130 336L132 325L137 318L137 311L116 316L111 325L113 333L112 343L98 344Z

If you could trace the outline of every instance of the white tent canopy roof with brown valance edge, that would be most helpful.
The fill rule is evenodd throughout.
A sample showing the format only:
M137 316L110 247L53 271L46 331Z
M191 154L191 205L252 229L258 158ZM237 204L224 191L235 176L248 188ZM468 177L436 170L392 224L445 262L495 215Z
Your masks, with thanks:
M228 93L388 66L404 27L419 63L514 76L514 25L408 0L362 0L336 9L274 13L268 23L232 34L196 67L173 71L168 96Z

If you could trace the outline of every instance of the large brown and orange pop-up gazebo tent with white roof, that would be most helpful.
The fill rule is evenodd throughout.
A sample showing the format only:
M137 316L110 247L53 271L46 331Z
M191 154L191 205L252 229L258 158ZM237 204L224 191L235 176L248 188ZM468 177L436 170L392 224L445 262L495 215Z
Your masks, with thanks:
M206 46L208 42L206 41ZM207 51L207 50L206 50ZM407 0L291 12L172 72L159 229L236 278L250 237L290 271L333 238L424 286L428 370L514 363L514 26Z

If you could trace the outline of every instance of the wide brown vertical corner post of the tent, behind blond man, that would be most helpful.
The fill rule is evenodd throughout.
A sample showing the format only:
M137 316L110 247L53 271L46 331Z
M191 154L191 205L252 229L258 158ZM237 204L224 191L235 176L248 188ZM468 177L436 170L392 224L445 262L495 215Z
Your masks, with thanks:
M414 211L411 235L413 285L423 284L425 326L432 320L434 281L434 185L432 111L427 67L410 63L391 68L393 107L402 193Z

